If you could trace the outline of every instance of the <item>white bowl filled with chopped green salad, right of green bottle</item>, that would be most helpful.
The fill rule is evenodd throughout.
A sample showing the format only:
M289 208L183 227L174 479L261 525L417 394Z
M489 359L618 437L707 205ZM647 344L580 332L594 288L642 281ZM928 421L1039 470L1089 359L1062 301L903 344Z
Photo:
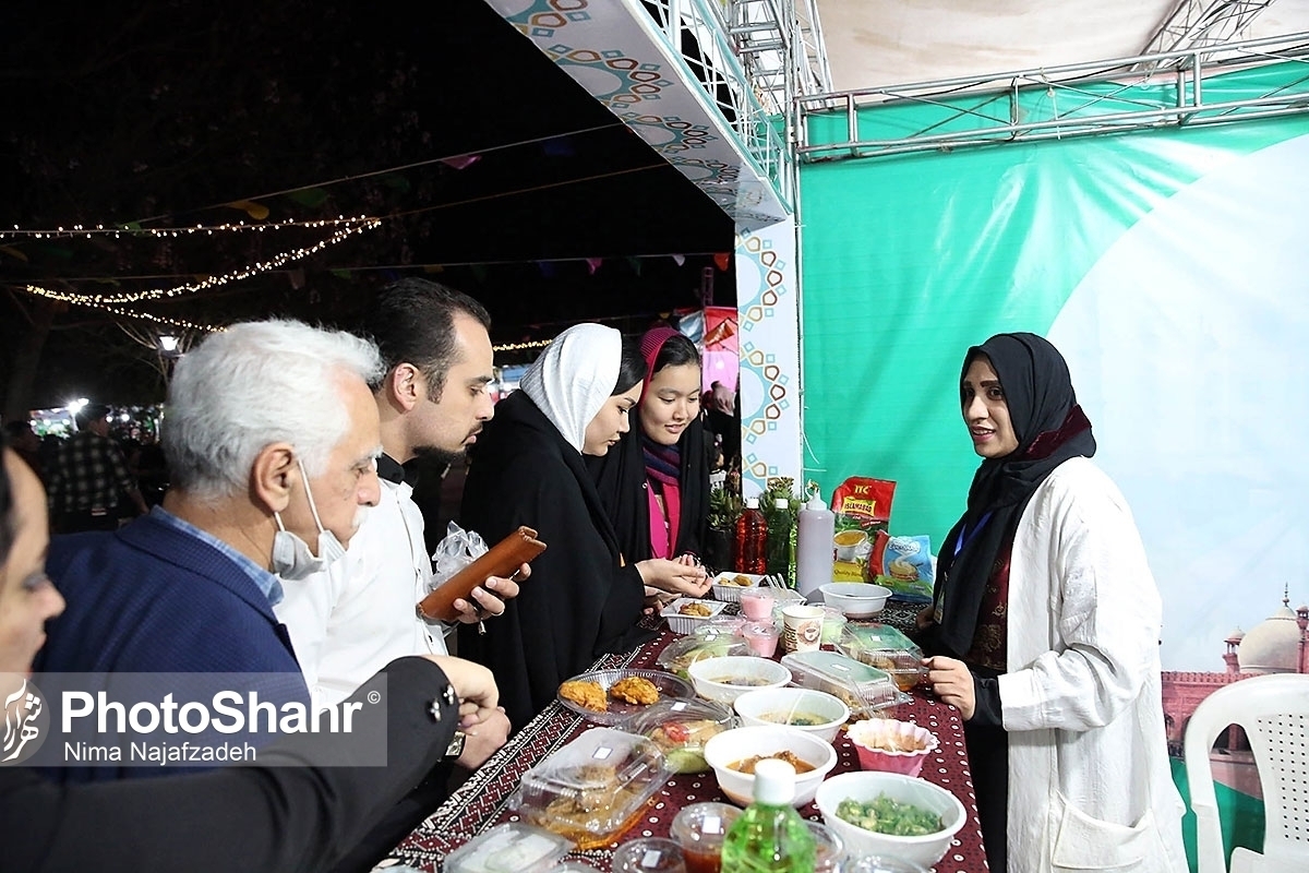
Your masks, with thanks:
M932 866L945 855L967 814L940 785L903 774L839 774L814 797L823 822L851 857L890 855Z

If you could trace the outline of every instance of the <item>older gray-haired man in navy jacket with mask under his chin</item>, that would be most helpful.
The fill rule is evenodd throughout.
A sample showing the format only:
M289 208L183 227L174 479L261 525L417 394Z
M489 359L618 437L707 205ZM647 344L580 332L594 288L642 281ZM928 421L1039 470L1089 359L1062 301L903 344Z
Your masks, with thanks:
M69 606L37 670L279 674L260 690L308 705L272 605L279 575L339 556L377 503L380 374L372 343L291 321L234 325L182 357L162 429L173 488L122 530L51 543Z

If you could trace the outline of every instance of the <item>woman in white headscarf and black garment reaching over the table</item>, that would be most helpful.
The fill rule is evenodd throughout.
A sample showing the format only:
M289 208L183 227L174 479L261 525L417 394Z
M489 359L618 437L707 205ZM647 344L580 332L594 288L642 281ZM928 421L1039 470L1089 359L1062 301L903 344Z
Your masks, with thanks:
M492 544L528 525L546 543L504 616L487 622L486 633L459 631L459 656L491 668L514 729L555 699L560 682L649 636L637 627L649 589L708 589L700 567L623 556L583 461L627 432L644 377L635 343L611 327L576 325L478 436L461 524Z

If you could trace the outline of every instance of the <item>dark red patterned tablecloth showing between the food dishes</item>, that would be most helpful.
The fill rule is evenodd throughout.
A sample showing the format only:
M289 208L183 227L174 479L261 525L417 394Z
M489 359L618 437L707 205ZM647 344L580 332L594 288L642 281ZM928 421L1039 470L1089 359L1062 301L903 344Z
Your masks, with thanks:
M618 668L654 668L658 653L675 635L664 631L651 643L626 656L605 656L596 662L597 670ZM911 703L901 704L895 717L915 721L940 739L940 749L923 766L922 776L936 783L959 798L969 813L969 821L956 835L945 857L936 865L936 873L979 873L987 869L982 849L982 831L977 819L977 801L973 796L973 776L963 747L963 722L958 712L939 703L928 692L915 691ZM482 831L503 822L518 821L509 809L509 798L528 770L593 726L558 703L533 719L500 751L483 764L450 798L415 830L395 849L394 857L423 869L440 870L446 853L458 848ZM850 739L842 732L836 742L836 767L833 774L859 770L859 760ZM613 849L637 836L668 836L673 817L682 806L698 801L730 802L719 789L713 772L673 776L651 800L647 815L610 846L573 852L569 857L609 870ZM813 804L801 808L805 818L822 821Z

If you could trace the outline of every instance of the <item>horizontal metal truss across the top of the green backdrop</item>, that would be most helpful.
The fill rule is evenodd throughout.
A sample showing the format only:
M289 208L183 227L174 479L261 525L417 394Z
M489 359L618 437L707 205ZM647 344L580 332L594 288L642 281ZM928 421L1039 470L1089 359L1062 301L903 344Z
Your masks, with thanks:
M1305 75L1257 97L1206 99L1204 79L1276 63L1304 64ZM1156 65L1164 67L1164 72L1148 72ZM977 77L798 96L796 106L796 154L805 162L1271 118L1309 111L1309 33ZM919 107L914 130L905 132L903 114L897 115L895 124L880 128L880 113L860 113L873 106ZM812 143L810 122L840 113L846 116L846 136ZM888 135L876 136L881 130Z

